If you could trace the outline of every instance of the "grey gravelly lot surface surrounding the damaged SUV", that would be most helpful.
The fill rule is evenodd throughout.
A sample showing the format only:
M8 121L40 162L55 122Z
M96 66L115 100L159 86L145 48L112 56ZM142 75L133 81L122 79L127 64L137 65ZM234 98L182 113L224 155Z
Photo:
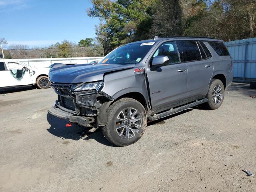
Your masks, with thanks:
M193 108L148 125L136 144L47 118L56 94L0 95L0 191L255 191L256 90L233 84L218 110Z

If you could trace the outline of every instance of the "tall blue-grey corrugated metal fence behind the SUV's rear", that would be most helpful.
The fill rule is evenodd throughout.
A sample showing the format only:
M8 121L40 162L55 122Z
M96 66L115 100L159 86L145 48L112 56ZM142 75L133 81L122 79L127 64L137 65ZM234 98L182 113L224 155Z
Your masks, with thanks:
M224 43L234 62L234 81L256 81L256 38Z

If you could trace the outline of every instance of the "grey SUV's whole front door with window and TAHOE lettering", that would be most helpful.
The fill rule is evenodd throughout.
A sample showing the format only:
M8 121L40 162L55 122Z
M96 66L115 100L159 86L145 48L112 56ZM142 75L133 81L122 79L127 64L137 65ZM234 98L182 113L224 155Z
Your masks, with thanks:
M174 41L159 46L154 56L168 56L168 64L147 70L152 110L177 105L188 96L188 73L186 63L180 63Z

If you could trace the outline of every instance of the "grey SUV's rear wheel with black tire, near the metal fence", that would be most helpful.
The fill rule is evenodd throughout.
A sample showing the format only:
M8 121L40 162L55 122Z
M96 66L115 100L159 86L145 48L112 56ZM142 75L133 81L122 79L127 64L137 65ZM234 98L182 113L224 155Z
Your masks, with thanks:
M219 79L212 79L210 81L210 87L206 95L208 102L206 102L204 106L210 110L218 109L224 100L224 96L225 88L222 81Z

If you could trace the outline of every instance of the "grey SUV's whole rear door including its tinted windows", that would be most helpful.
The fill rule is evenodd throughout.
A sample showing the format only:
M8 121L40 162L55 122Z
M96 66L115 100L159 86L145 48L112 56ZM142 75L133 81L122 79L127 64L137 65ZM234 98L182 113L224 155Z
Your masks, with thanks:
M200 42L184 40L176 43L180 58L188 68L188 97L194 100L204 98L213 74L212 59Z

